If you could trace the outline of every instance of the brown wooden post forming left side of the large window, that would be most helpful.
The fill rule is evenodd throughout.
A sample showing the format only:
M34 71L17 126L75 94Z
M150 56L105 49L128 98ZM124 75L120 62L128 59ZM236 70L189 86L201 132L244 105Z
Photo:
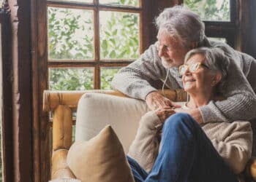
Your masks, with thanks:
M34 181L50 179L50 127L42 111L42 92L48 88L47 1L31 0L31 58L33 88Z

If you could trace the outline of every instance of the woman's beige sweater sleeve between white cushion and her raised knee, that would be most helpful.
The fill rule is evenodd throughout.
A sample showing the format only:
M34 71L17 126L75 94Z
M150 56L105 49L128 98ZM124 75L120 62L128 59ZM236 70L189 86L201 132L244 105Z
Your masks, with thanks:
M140 119L135 140L129 147L128 156L132 157L143 167L144 170L150 171L154 165L158 153L157 128L162 124L154 111L149 111Z

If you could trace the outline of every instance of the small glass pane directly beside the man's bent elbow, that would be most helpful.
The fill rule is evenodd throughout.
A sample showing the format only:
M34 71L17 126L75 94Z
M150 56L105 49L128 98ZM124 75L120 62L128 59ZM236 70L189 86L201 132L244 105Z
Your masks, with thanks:
M101 68L100 70L100 88L104 90L110 90L111 88L111 81L114 75L120 68L112 67L112 68Z

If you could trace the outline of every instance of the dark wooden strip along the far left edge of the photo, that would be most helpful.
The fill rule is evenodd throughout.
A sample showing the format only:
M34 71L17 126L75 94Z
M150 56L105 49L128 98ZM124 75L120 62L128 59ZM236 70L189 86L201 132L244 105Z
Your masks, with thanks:
M12 138L12 55L11 55L11 27L10 9L8 4L0 15L1 20L1 137L2 137L2 178L4 181L13 181L13 138Z

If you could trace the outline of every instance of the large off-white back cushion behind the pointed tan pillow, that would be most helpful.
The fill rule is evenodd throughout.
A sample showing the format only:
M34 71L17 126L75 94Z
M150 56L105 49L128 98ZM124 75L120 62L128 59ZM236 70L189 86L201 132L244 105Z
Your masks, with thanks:
M145 101L100 93L86 93L78 103L75 141L88 141L110 124L127 154L140 117L149 111Z

